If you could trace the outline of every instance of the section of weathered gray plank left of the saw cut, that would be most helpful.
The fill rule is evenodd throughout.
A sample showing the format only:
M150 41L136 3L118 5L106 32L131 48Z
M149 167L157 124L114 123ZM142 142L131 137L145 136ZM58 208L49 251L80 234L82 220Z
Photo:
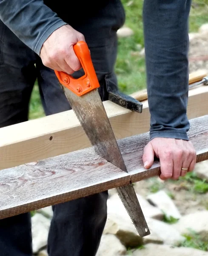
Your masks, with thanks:
M130 175L98 157L92 148L4 169L0 171L0 218L129 182Z

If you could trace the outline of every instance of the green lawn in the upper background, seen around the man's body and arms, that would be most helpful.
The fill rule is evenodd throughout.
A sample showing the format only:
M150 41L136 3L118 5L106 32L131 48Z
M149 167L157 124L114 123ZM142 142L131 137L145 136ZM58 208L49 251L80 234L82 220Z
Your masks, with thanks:
M142 1L122 0L126 20L125 26L133 29L134 35L120 38L115 72L119 88L124 93L133 93L146 87L145 60L138 53L144 47L142 24ZM129 4L131 2L131 4ZM190 32L196 32L199 27L208 22L208 0L193 0L190 13ZM31 96L29 118L44 116L40 102L37 84Z

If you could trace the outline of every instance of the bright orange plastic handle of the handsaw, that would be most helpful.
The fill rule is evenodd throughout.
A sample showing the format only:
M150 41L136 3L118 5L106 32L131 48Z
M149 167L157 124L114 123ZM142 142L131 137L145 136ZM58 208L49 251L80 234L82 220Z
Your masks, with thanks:
M73 78L62 71L55 71L55 74L60 83L66 86L69 90L74 92L77 96L82 96L91 90L100 87L97 75L95 73L90 51L87 44L84 41L79 41L73 46L74 52L79 59L85 74L78 79Z

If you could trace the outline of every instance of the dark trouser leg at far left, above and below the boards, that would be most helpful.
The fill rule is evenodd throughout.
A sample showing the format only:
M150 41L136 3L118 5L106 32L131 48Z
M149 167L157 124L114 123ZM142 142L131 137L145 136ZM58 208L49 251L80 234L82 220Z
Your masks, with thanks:
M0 127L28 120L28 102L36 78L34 57L0 21ZM0 255L32 255L30 213L0 220Z

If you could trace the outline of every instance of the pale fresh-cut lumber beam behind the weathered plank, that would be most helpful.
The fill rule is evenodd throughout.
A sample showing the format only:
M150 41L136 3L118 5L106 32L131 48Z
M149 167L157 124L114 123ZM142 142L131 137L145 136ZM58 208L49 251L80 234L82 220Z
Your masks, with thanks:
M189 119L208 113L207 99L208 86L189 91L187 109ZM103 104L117 140L149 131L150 113L147 101L142 102L142 113L131 112L110 101L105 101ZM74 111L65 111L0 128L0 169L90 146Z

